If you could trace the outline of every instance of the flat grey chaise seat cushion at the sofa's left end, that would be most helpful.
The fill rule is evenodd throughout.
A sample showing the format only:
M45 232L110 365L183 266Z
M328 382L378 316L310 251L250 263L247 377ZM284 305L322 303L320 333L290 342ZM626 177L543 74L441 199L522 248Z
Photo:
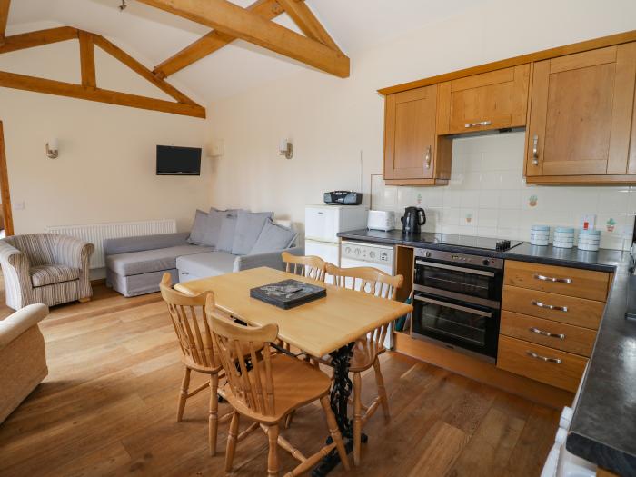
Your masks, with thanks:
M171 270L176 266L176 258L181 255L210 252L211 247L181 245L177 247L144 250L143 252L119 253L106 257L106 267L123 276L139 273Z

